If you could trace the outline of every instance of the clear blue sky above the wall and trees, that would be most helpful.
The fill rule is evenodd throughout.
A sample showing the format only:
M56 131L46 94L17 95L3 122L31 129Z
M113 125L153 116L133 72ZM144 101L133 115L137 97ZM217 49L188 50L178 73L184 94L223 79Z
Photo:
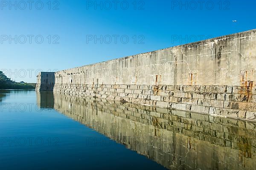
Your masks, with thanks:
M253 0L48 1L1 1L0 69L15 81L256 28ZM95 35L102 43L90 40Z

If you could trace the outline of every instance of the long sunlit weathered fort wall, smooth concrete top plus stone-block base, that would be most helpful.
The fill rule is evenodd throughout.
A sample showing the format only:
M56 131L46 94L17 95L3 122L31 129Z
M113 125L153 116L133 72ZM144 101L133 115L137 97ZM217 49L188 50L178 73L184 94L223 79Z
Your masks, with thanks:
M55 92L256 120L256 30L55 72Z

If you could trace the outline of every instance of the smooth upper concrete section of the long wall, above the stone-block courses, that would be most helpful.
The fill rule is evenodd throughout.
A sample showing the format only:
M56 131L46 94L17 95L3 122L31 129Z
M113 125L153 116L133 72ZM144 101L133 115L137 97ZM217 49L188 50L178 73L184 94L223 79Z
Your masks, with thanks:
M241 86L256 81L255 64L251 30L67 69L56 72L55 83Z

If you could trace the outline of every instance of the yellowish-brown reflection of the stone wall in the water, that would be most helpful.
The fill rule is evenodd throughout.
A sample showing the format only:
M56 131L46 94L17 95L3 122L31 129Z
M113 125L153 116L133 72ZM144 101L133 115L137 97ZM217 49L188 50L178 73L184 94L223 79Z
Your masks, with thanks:
M41 107L53 107L169 169L256 167L254 122L52 92L37 96Z

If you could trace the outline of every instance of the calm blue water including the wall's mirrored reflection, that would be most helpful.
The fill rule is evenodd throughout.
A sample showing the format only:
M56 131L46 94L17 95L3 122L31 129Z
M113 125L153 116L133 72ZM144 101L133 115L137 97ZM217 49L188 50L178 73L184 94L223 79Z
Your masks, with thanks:
M0 169L253 170L256 123L0 90Z

